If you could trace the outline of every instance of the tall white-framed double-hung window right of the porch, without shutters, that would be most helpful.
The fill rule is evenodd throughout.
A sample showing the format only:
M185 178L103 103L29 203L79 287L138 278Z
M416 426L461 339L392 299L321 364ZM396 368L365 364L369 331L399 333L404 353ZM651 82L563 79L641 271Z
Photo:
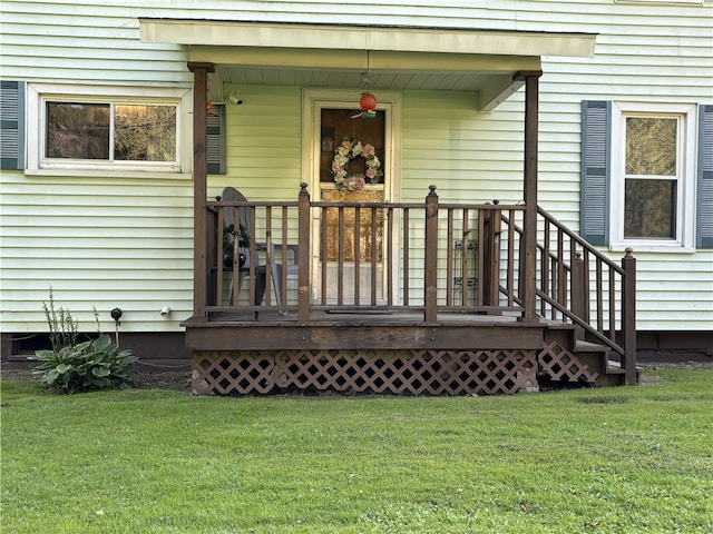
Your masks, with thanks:
M614 102L613 248L693 247L695 107Z

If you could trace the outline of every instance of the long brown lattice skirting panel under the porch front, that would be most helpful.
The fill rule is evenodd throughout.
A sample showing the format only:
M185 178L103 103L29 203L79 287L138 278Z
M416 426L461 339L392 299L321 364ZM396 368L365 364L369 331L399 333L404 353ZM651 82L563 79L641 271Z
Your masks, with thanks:
M192 366L196 395L489 395L537 388L537 350L195 352Z

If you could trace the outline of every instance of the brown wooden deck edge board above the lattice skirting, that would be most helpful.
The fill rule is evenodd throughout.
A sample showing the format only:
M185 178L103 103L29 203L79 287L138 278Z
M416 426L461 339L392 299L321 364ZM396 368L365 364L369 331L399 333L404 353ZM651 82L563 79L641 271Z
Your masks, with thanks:
M428 324L422 314L314 313L307 324L276 312L222 314L211 322L187 320L186 345L194 350L248 349L534 349L541 325L511 316L441 314Z

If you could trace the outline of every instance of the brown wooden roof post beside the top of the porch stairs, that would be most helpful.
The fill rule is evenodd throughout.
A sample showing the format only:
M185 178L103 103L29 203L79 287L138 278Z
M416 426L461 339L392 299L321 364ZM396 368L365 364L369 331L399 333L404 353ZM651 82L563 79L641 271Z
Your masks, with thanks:
M525 221L524 246L525 265L520 276L525 279L525 294L520 295L525 307L522 319L536 322L536 280L537 280L537 131L539 112L538 80L543 76L541 70L520 71L515 75L515 80L525 80Z

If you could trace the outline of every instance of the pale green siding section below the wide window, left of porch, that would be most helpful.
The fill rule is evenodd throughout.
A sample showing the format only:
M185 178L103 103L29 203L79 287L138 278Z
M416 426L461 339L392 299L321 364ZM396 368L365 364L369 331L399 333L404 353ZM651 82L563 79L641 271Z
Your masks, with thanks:
M125 312L123 330L175 329L158 312L166 304L183 319L192 309L193 189L184 182L3 175L6 325L45 330L52 287L84 330L95 330L95 306L105 332L115 306Z

